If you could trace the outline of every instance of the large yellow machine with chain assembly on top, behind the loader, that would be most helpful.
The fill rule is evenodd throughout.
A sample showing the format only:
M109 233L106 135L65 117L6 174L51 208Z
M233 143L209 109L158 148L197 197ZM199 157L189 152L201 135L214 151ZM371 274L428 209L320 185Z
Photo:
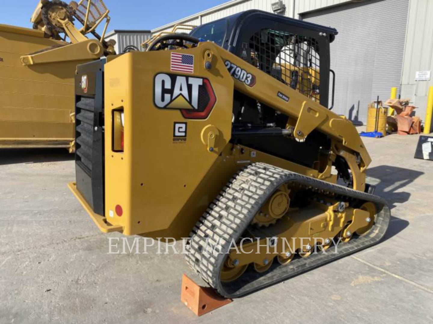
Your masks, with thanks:
M74 151L75 70L115 54L114 44L103 41L108 13L102 0L39 0L33 29L0 25L0 148ZM87 38L90 33L96 39Z

